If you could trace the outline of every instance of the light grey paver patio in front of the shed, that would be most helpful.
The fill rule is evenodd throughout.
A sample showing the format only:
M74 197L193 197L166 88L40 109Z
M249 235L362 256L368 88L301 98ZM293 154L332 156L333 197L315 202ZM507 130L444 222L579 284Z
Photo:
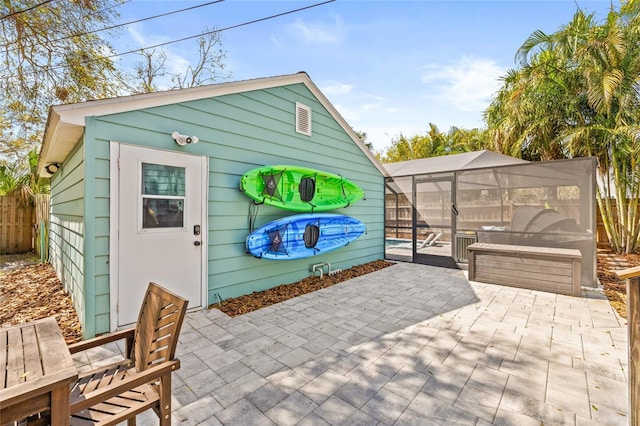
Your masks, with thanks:
M583 295L398 263L235 318L193 312L173 424L626 425L626 321Z

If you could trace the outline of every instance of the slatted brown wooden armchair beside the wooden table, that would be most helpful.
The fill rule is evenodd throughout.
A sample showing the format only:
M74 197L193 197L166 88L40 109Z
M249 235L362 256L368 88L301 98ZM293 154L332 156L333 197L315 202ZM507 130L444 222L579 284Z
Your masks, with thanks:
M69 346L71 353L124 339L127 359L80 374L71 387L71 424L113 425L153 408L171 424L171 372L188 301L149 283L135 328Z

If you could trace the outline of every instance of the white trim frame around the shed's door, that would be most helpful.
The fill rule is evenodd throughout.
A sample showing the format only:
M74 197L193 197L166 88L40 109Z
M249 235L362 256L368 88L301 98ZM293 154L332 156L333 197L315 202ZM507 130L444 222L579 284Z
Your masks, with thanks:
M118 249L118 236L119 236L119 223L118 223L118 215L120 208L120 199L118 196L118 191L120 188L120 167L119 167L119 158L120 158L120 146L121 145L131 145L133 144L124 144L122 142L110 141L109 146L109 328L110 331L115 331L118 328L118 274L119 274L119 249ZM146 148L146 147L140 147ZM155 148L147 148L147 149L155 149ZM158 150L165 152L174 152L170 150ZM193 155L193 154L187 154ZM207 309L209 300L208 300L208 194L209 194L209 161L206 156L198 156L200 157L201 165L202 165L202 194L201 199L203 202L202 211L201 211L201 241L202 241L202 250L201 252L201 297L202 297L202 306L196 309Z

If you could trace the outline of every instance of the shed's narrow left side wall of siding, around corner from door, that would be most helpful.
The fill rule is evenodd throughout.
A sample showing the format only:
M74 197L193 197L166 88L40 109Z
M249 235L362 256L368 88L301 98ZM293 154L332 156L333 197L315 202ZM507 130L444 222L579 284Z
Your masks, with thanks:
M51 179L49 229L50 262L83 325L89 319L85 312L84 173L84 144L79 143Z

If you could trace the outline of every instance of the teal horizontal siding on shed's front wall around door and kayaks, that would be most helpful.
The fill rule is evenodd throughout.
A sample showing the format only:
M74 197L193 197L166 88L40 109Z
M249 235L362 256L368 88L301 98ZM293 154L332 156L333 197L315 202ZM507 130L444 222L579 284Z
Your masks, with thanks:
M312 109L312 135L295 132L295 103ZM89 130L90 128L90 130ZM171 133L200 138L178 146ZM181 151L209 158L208 303L294 282L310 266L329 262L348 268L384 257L384 179L347 133L303 84L231 94L88 120L87 196L95 200L87 217L95 262L87 273L93 288L95 332L108 331L108 236L110 141ZM89 157L91 156L91 159ZM360 185L365 199L335 211L363 221L367 234L325 255L296 261L255 259L245 253L250 200L238 189L241 175L265 164L295 164L342 174ZM292 214L261 206L256 227ZM87 245L89 245L87 243ZM89 284L90 283L90 284Z

